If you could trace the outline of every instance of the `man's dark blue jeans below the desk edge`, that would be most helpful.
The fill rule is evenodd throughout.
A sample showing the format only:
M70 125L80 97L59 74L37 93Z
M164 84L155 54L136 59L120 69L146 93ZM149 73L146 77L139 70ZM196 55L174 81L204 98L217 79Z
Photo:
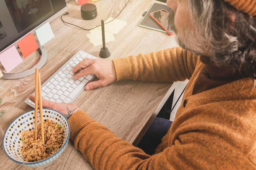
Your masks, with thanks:
M144 150L147 154L153 155L155 149L161 143L162 138L166 135L172 123L173 122L168 119L156 117L137 147Z

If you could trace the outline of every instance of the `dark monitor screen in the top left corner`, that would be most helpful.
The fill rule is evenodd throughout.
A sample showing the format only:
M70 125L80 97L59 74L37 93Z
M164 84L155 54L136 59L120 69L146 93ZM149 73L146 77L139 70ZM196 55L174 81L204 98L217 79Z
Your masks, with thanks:
M65 0L0 0L0 53L64 8Z

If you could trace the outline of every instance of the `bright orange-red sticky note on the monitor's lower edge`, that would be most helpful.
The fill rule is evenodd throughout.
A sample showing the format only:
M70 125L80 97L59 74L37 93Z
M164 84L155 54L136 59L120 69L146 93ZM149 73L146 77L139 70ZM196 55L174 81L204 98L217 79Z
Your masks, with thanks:
M20 40L17 44L20 47L20 51L24 58L38 49L38 45L32 33Z

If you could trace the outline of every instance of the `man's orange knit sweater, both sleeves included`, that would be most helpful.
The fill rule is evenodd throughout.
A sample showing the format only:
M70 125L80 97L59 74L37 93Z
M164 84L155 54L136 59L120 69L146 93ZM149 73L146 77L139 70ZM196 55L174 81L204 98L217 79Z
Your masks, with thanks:
M153 156L115 136L84 111L74 113L69 119L70 138L95 170L256 170L254 79L192 95L204 64L179 47L113 62L118 81L189 79L182 99L187 104L180 106Z

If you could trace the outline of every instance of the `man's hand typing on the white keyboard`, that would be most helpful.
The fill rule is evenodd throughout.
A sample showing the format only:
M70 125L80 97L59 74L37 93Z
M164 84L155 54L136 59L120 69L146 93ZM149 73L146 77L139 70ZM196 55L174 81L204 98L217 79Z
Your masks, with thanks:
M80 69L82 70L74 76L74 79L78 79L79 77L89 74L95 74L99 79L86 84L85 90L107 86L116 80L114 64L110 60L84 59L74 67L72 72L76 73Z

